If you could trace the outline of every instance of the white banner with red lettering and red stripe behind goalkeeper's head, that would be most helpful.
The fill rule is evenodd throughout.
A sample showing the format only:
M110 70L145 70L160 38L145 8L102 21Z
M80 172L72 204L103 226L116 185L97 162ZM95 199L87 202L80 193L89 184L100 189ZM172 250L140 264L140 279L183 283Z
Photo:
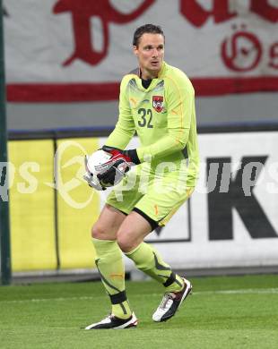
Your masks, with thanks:
M117 99L135 29L161 25L165 60L197 96L278 89L275 0L4 1L8 99Z

